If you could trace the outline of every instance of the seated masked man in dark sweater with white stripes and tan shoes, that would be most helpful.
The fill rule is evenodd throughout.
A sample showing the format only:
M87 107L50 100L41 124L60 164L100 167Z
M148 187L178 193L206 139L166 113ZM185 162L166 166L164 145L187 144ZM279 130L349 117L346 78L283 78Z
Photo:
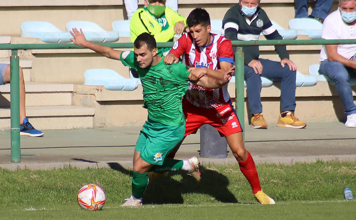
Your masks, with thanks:
M282 40L265 11L258 5L260 0L240 0L232 6L223 19L222 35L234 40L258 40L261 32L267 40ZM234 48L235 50L235 48ZM260 59L258 46L243 47L245 61L245 79L247 98L251 109L251 127L267 128L262 115L261 76L281 80L281 112L277 127L305 128L306 123L294 116L295 110L295 75L297 67L289 60L286 46L275 46L281 62Z

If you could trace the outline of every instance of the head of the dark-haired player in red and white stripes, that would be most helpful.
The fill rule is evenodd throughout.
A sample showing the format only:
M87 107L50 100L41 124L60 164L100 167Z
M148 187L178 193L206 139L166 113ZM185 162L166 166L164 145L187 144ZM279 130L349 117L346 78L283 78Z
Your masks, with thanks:
M194 9L187 17L189 34L199 46L207 46L210 42L210 16L204 9Z

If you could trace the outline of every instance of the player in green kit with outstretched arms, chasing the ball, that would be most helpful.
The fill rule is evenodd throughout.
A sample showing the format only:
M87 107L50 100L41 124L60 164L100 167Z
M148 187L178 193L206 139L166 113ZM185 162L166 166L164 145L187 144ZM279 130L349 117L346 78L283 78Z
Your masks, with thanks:
M100 55L120 60L125 66L134 68L143 87L143 107L148 110L148 119L138 137L133 157L132 195L122 206L142 205L142 196L148 184L148 172L185 170L197 181L200 180L199 160L166 158L183 139L185 118L182 110L182 96L188 88L188 81L205 88L219 88L231 79L234 67L222 79L194 75L186 66L165 65L161 53L157 53L156 40L148 33L139 35L133 51L119 51L103 45L93 44L85 39L80 30L70 32L74 44L89 48Z

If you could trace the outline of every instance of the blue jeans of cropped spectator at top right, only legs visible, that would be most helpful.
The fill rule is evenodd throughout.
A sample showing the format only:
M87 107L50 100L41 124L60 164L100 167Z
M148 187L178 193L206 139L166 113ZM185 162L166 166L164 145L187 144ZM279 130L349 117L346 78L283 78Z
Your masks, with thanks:
M315 7L312 11L312 16L321 19L328 16L331 5L333 5L334 0L316 0ZM295 3L295 15L294 17L308 17L308 5L307 0L294 0Z

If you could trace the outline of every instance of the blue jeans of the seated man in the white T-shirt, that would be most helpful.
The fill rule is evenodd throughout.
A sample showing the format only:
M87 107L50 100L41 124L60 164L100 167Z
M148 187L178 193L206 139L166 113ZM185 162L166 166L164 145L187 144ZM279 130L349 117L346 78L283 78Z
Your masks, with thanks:
M354 69L345 67L339 62L329 62L324 60L320 63L320 73L328 76L335 82L337 93L340 96L341 102L344 104L344 112L346 115L355 114L356 106L350 86L350 73L355 73Z

